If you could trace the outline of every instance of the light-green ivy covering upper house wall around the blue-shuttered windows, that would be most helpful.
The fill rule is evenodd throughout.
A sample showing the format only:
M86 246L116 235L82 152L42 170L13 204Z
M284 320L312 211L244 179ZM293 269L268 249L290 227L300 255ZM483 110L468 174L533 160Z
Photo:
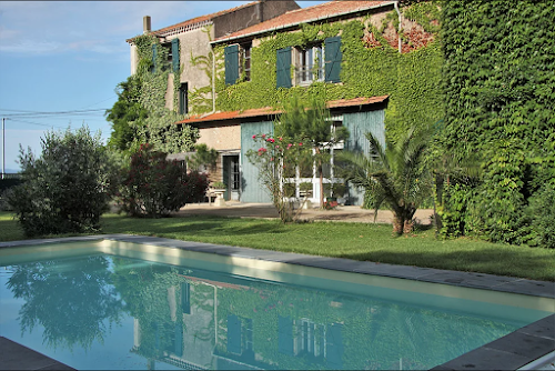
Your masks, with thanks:
M320 96L325 100L389 94L385 124L392 138L412 123L438 121L444 110L438 8L430 2L402 8L402 12L405 31L402 32L401 54L396 44L398 23L395 23L397 14L394 10L386 13L380 28L366 17L346 22L303 24L300 32L280 32L261 39L260 46L252 49L251 81L240 78L240 82L226 86L224 70L219 71L216 110L280 107L293 93L301 98ZM418 21L424 26L414 24ZM406 28L405 23L413 26ZM422 34L427 39L422 41ZM275 88L278 49L302 48L335 36L341 36L342 42L341 83L314 82L309 87ZM216 54L223 56L223 47L218 47Z

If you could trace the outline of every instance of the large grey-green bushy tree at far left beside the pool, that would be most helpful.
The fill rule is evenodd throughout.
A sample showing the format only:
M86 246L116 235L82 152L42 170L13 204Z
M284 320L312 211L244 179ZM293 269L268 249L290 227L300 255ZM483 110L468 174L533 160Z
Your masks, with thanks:
M100 132L82 127L41 141L40 158L21 149L23 183L8 200L26 235L98 231L115 173Z

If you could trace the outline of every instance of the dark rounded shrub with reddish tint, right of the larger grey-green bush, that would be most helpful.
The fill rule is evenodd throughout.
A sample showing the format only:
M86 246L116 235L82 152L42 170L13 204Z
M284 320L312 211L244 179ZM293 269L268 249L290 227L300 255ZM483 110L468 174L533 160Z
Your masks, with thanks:
M178 161L165 158L167 153L154 151L149 144L141 144L131 156L119 193L123 211L133 217L159 218L204 198L206 176L186 173Z

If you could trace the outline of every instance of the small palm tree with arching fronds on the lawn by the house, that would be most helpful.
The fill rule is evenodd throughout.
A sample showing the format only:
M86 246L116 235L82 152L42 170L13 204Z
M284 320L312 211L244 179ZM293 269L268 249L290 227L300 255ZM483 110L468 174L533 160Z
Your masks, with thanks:
M372 156L345 152L343 177L353 186L362 187L372 195L375 215L385 204L393 211L393 231L396 234L413 230L413 217L422 200L430 192L424 151L432 131L416 131L413 127L395 143L386 140L385 149L377 138L366 133Z

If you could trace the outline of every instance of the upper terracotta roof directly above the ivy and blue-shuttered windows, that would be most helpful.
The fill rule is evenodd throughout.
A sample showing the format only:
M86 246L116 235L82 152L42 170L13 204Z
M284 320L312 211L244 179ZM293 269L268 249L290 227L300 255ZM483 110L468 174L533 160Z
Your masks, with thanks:
M380 8L389 4L393 4L395 1L344 1L335 0L330 2L324 2L317 6L302 8L296 10L287 11L286 13L248 27L238 32L221 37L212 41L212 43L219 43L224 41L230 41L239 39L245 36L252 36L258 33L264 33L273 31L275 29L284 29L289 27L299 26L301 23L307 23L317 21L321 19L326 19L331 17L337 17L342 14L354 13L362 10L369 10L372 8Z

